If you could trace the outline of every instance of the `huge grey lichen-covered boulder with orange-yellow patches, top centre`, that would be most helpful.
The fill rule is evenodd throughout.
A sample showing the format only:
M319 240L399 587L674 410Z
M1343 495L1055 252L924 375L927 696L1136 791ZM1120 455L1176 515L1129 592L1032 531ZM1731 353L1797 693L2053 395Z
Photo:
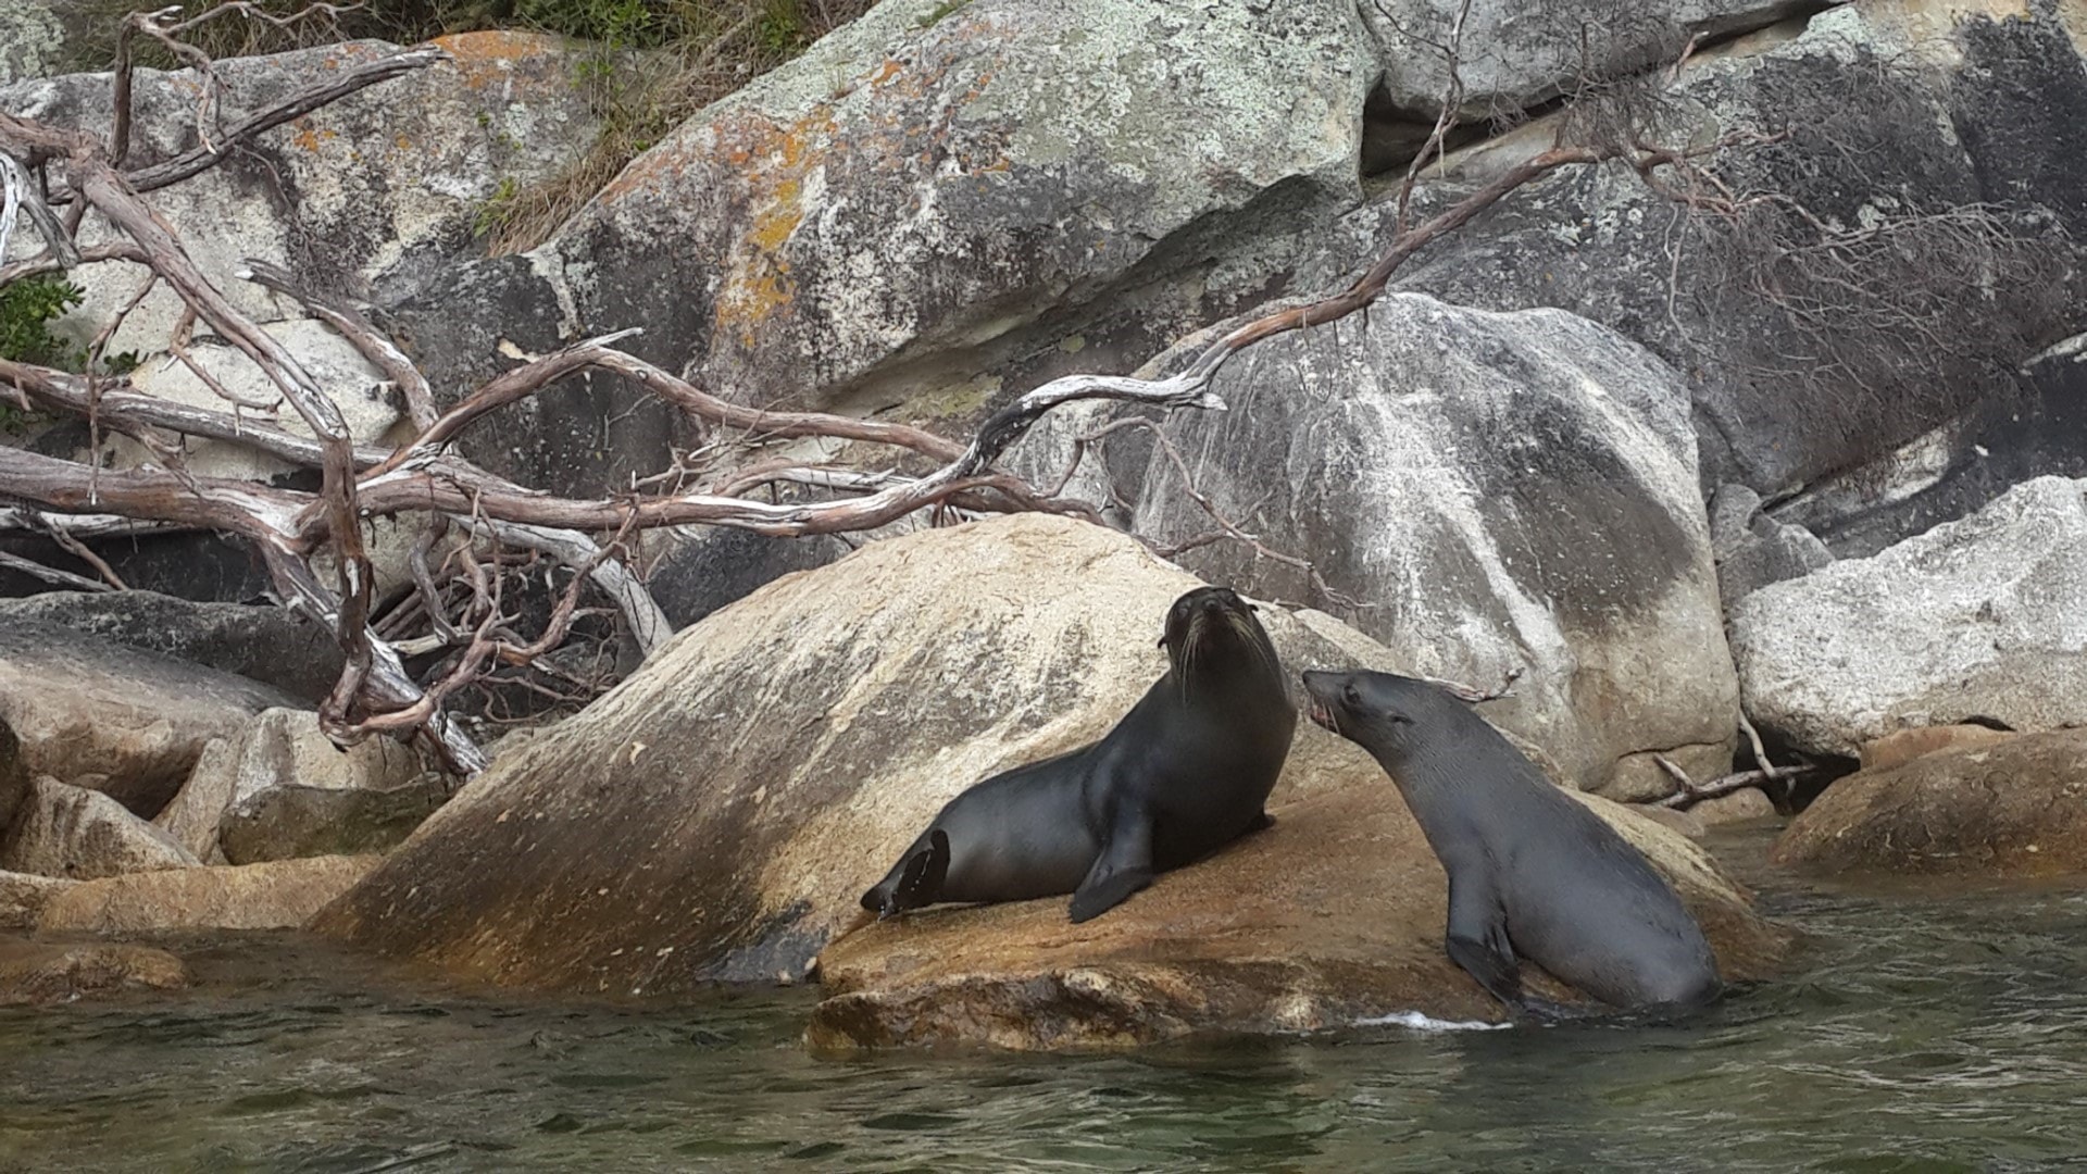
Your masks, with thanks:
M958 418L1002 391L995 361L1114 315L1121 290L1359 196L1377 67L1352 4L937 8L872 8L678 127L543 249L386 322L442 386L507 366L499 338L643 326L634 353L745 403ZM611 426L637 403L618 380L538 403L470 455L591 489L664 457L664 409Z

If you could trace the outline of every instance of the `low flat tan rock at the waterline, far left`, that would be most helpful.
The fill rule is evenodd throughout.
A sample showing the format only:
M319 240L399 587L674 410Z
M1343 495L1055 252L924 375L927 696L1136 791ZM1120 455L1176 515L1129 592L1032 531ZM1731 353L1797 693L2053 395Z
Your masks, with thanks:
M376 856L309 856L81 882L52 894L35 928L86 934L294 930L369 875L376 863Z

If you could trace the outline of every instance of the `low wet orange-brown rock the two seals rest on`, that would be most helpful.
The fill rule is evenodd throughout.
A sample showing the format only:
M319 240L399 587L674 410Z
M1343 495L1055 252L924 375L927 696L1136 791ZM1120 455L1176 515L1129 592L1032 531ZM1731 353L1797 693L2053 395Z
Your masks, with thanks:
M1300 742L1332 735L1313 727ZM1346 758L1346 760L1344 760ZM1390 779L1354 750L1273 808L1275 827L1081 925L1062 900L929 909L820 955L814 1047L1150 1044L1288 1034L1421 1011L1505 1017L1442 950L1448 882ZM1682 836L1580 796L1676 884L1728 978L1766 973L1782 934ZM1572 999L1526 965L1534 990Z

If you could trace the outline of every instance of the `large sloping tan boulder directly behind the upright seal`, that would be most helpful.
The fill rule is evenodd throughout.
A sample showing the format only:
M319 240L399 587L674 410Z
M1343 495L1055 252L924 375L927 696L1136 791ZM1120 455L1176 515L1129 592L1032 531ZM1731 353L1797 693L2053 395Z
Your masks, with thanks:
M1160 620L1196 583L1125 535L1052 516L870 543L682 631L503 754L315 928L511 986L668 994L803 973L950 796L1108 731L1165 671ZM1261 618L1292 671L1388 662L1329 616ZM1340 804L1329 817L1300 806L1321 792ZM1346 882L1306 865L1334 859L1327 844L1359 861L1398 811L1367 756L1300 729L1275 802L1304 813L1300 827L1236 852L1290 846L1269 869L1317 869L1325 896L1309 905L1334 909L1350 882L1354 909L1388 900L1361 865ZM1210 867L1125 909L1179 909L1165 894L1202 892ZM1014 915L1085 940L1062 898ZM1135 925L1160 934L1154 917ZM1160 936L1256 932L1229 896L1194 925Z

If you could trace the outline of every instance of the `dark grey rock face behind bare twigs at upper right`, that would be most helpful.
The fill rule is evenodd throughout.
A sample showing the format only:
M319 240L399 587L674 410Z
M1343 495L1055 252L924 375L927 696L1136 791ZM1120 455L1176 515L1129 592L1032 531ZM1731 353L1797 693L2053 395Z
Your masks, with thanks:
M1981 0L1843 4L1701 52L1663 96L1657 136L1672 142L1789 132L1720 159L1720 175L1738 188L1784 192L1849 228L1916 211L1956 215L1862 255L1872 288L1941 345L1916 341L1912 328L1864 326L1878 299L1828 313L1818 338L1799 336L1747 280L1751 238L1707 217L1678 219L1626 167L1563 169L1526 186L1415 257L1394 286L1488 309L1555 305L1645 343L1688 380L1705 491L1743 483L1780 497L2014 395L2012 368L2079 330L2083 40L2077 6L2043 0L2026 10ZM1557 134L1559 119L1544 117L1455 155L1450 182L1423 190L1417 213L1440 211ZM1945 226L1968 226L1978 209L1993 209L1997 232L1972 230L1976 244L1943 263ZM1346 217L1300 267L1298 286L1334 288L1382 253L1392 211L1380 201ZM1772 226L1759 217L1749 232ZM1344 236L1348 246L1338 244ZM2012 276L1935 288L1935 274L1981 265ZM1933 297L1912 299L1918 290ZM1780 355L1816 359L1791 370ZM1830 514L1789 520L1839 549ZM1885 543L1903 533L1914 531Z

